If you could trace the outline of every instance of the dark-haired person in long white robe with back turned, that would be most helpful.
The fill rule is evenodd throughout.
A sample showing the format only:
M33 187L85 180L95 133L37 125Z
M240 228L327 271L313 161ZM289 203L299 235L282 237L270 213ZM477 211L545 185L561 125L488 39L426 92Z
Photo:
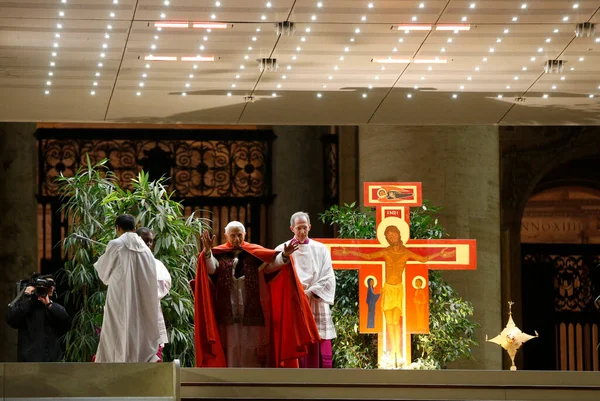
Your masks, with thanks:
M94 264L108 286L95 362L156 362L160 332L154 255L135 232L135 219L116 220L118 238Z

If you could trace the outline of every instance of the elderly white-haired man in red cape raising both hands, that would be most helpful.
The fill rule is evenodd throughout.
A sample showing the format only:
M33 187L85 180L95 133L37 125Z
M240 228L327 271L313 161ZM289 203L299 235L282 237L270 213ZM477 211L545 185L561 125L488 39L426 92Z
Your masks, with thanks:
M198 367L297 367L319 332L289 255L244 241L242 223L225 227L227 242L212 247L202 234L195 295Z

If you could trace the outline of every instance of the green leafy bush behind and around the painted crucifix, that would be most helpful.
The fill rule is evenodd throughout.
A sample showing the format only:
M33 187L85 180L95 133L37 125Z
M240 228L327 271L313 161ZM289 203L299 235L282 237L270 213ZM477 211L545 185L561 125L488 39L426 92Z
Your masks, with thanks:
M447 236L439 224L440 208L428 201L410 212L410 233L415 239L437 239ZM320 215L323 222L335 225L339 238L371 239L376 236L375 214L361 210L356 203L332 206ZM358 332L358 271L337 270L336 303L332 315L338 338L333 342L333 361L338 368L376 368L377 336ZM473 305L462 300L440 272L429 272L430 333L412 336L415 369L445 368L449 362L471 357L477 343L478 327L469 317Z

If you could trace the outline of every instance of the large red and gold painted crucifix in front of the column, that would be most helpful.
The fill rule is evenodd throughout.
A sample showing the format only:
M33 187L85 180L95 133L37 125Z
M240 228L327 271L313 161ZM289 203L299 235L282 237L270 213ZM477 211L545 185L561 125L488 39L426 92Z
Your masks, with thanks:
M411 240L410 207L422 206L420 182L365 182L376 208L377 239L317 239L334 269L359 270L361 333L379 334L379 366L411 363L410 335L429 332L429 269L475 269L476 241Z

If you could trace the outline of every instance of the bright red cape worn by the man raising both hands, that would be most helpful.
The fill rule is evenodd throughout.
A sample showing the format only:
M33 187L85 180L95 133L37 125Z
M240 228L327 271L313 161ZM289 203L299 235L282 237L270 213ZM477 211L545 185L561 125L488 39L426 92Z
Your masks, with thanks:
M225 243L214 247L212 252L217 256L232 249L229 243ZM248 242L242 243L242 249L266 263L278 253ZM307 345L320 340L319 332L294 268L287 264L275 274L266 283L264 272L259 272L261 304L270 336L268 365L297 367L298 358L307 353ZM206 270L204 252L198 256L196 280L191 285L194 290L196 366L227 367L213 307L215 288Z

